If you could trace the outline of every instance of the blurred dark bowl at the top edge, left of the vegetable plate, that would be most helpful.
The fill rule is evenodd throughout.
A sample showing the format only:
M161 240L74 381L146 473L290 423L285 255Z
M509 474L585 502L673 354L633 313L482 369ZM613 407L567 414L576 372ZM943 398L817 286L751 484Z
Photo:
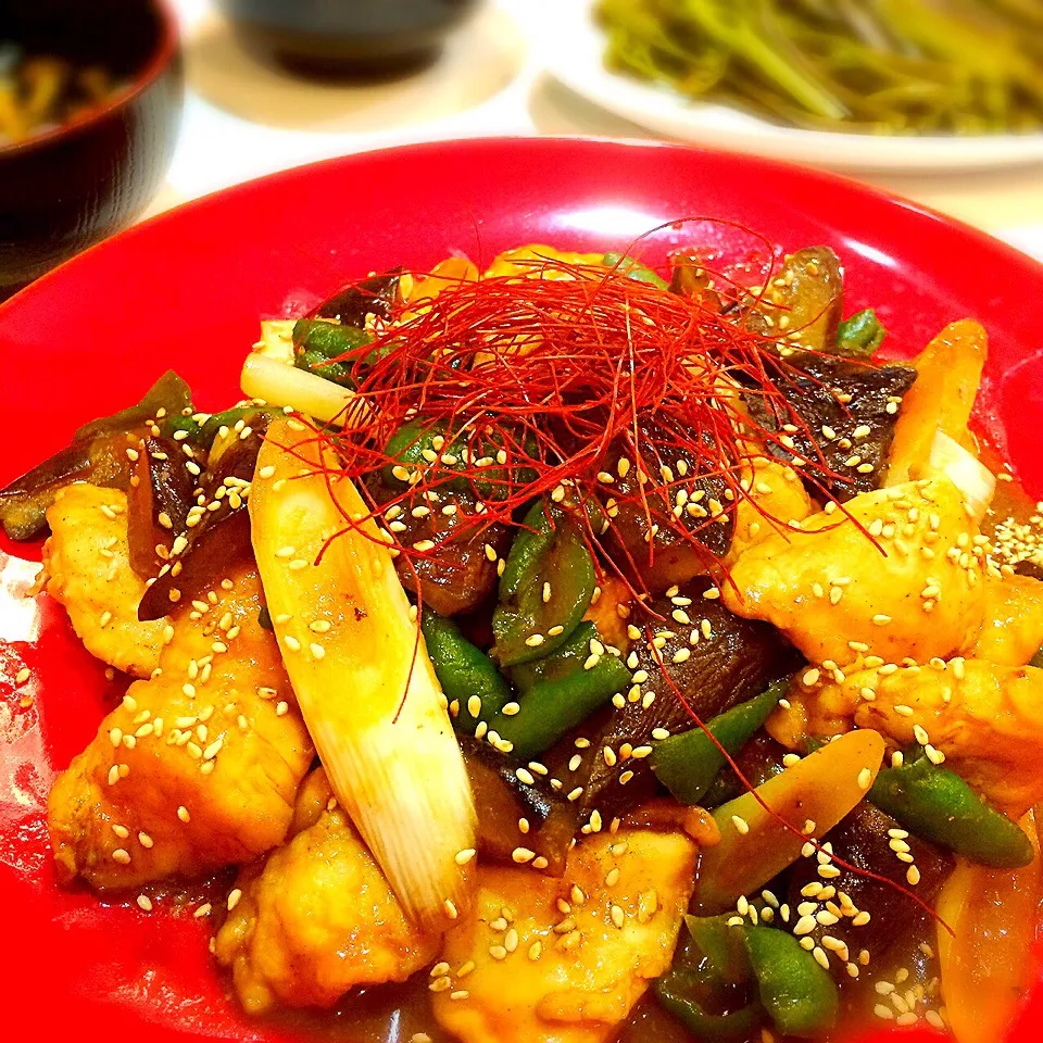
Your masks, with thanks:
M477 0L218 0L248 43L312 72L422 64Z

